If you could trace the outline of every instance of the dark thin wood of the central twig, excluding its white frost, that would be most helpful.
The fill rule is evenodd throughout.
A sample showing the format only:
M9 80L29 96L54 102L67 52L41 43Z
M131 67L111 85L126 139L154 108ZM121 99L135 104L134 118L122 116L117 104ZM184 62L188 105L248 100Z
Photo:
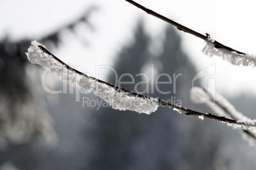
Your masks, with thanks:
M95 77L90 77L89 75L87 74L83 74L82 72L70 67L68 64L62 62L59 58L57 58L57 56L53 55L52 53L50 53L47 49L45 49L43 46L38 46L38 48L41 49L41 51L43 51L44 53L46 53L47 55L50 55L52 56L55 60L57 60L58 62L60 62L64 67L66 67L66 69L68 70L71 70L73 72L75 72L76 74L80 74L80 75L83 75L87 78L90 78L90 79L94 79L95 81L97 82L101 82L101 83L104 83L106 84L107 86L110 86L111 88L119 91L120 93L127 93L127 95L131 95L131 96L136 96L138 98L142 98L142 99L148 99L150 100L151 98L148 97L148 96L144 96L144 95L140 95L138 93L134 93L132 91L129 91L127 89L124 89L124 88L120 88L118 86L114 86L113 84L110 84L108 82L104 82L104 81L101 81L99 79L96 79ZM242 122L238 122L234 119L229 119L227 117L224 117L224 116L218 116L218 115L213 115L213 114L209 114L209 113L201 113L201 112L197 112L195 110L191 110L191 109L188 109L188 108L185 108L185 107L182 107L182 106L179 106L179 105L173 105L172 103L168 103L164 100L161 100L161 99L158 99L156 100L155 102L159 103L159 105L162 105L162 106L166 106L166 107L169 107L169 108L176 108L178 110L182 110L183 112L185 112L186 115L197 115L197 116L201 116L201 117L206 117L206 118L209 118L209 119L214 119L214 120L217 120L217 121L221 121L221 122L229 122L231 124L238 124L238 125L243 125L244 123Z

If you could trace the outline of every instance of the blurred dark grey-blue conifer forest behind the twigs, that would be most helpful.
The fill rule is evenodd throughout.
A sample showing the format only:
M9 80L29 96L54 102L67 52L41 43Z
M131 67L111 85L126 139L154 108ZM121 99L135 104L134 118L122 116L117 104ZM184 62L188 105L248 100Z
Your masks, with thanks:
M37 41L49 50L59 48L62 41L66 41L63 37L67 32L86 41L86 37L76 34L76 27L83 23L83 27L93 29L88 20L92 11L94 8ZM164 100L173 98L173 101L175 98L187 108L212 112L190 101L189 91L197 69L188 51L181 49L181 37L177 32L174 27L167 26L161 42L162 53L154 53L150 46L154 39L145 32L143 20L138 20L133 41L122 45L113 68L118 75L129 73L134 77L140 73L152 77L152 65L155 77L162 73L181 73L175 94L162 95L157 93L155 86L150 86L155 93L143 95ZM200 121L166 107L160 107L151 115L120 112L110 107L97 110L96 107L83 107L83 97L101 101L92 94L80 94L80 101L76 101L75 93L46 93L41 86L43 69L29 63L25 56L31 40L11 41L7 35L0 40L1 170L253 169L256 166L255 148L249 147L238 130L217 121ZM140 78L136 77L135 83L141 82ZM63 88L63 83L54 76L47 80L46 84L55 82L53 88ZM124 77L122 81L131 79ZM110 74L108 82L114 83L115 77ZM199 81L196 83L200 86ZM138 89L144 91L145 86L140 85ZM69 85L66 88L76 90ZM132 84L122 88L134 90ZM173 86L162 84L159 89L173 91ZM249 110L253 103L246 103L246 107L240 103L247 100L253 99L247 96L229 99L239 111L253 114L253 110Z

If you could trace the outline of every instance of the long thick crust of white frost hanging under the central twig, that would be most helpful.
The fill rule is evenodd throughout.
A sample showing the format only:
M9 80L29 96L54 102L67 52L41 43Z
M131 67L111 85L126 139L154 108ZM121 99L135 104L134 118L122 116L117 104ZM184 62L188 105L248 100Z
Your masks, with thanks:
M43 46L39 42L32 41L31 46L26 53L28 60L31 63L36 63L50 70L54 75L62 81L67 81L69 84L78 86L85 91L94 92L95 95L103 98L113 108L119 110L132 110L139 113L150 114L159 107L155 98L138 98L121 93L103 82L99 82L93 77L85 74L78 74L73 69L53 58L52 55L45 53L38 46ZM44 47L44 46L43 46Z

